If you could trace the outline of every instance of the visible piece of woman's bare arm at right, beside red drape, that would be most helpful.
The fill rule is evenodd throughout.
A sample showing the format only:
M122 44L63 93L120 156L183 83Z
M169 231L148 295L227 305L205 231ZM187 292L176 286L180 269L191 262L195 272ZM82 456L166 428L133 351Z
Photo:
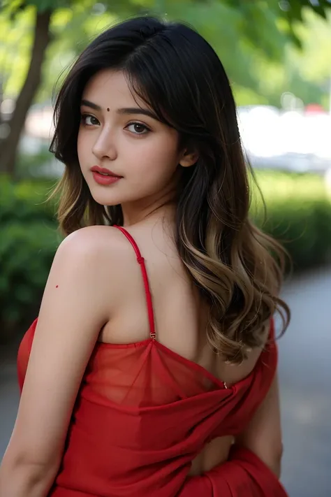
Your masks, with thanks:
M236 442L254 452L279 477L283 445L277 375L253 419Z

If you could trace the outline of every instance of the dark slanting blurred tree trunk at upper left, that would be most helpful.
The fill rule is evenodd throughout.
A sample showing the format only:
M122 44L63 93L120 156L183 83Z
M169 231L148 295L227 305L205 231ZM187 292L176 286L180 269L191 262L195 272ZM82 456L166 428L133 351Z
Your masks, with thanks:
M27 113L41 82L41 70L47 45L50 43L50 17L52 10L37 12L34 31L34 45L27 78L17 97L15 110L10 122L10 134L0 147L0 173L15 174L15 161L20 136L24 128Z

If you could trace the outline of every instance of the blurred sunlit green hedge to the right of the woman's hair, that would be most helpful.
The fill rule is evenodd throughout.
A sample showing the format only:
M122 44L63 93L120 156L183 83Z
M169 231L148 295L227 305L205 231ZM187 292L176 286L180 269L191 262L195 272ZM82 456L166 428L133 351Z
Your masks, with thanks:
M253 188L252 215L263 231L283 243L294 271L331 261L331 199L321 176L260 171L256 175L267 207Z

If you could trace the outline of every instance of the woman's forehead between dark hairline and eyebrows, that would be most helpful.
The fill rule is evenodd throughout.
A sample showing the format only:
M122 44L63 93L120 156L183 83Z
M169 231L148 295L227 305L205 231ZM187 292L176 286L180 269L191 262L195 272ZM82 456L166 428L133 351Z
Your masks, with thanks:
M136 106L142 103L138 95L133 95L122 71L105 69L96 73L84 88L83 99L98 101L98 103L116 103L118 107L125 102L126 106Z

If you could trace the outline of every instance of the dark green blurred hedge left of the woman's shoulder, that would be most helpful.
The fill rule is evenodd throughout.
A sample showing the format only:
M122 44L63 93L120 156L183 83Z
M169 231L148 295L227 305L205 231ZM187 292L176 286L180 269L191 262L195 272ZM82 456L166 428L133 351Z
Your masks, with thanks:
M59 245L50 182L0 179L0 340L27 326L38 311Z

